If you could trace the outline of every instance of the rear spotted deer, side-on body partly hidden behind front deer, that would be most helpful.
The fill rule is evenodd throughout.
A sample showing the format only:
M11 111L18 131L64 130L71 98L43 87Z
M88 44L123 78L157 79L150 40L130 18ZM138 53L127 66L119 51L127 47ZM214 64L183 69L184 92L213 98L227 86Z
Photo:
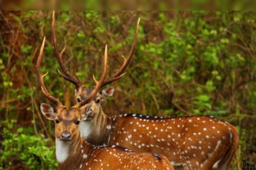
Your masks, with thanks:
M123 77L132 58L138 35L138 24L128 58L112 77L102 86ZM91 96L82 82L66 70L59 53L52 20L54 48L63 78L76 86L76 100L80 102ZM101 101L113 95L113 87L103 89L93 98L87 109L80 112L80 132L93 144L116 144L138 152L157 152L165 155L176 167L184 169L229 169L238 147L238 132L231 124L208 116L151 117L141 114L107 116ZM85 108L83 108L85 109Z

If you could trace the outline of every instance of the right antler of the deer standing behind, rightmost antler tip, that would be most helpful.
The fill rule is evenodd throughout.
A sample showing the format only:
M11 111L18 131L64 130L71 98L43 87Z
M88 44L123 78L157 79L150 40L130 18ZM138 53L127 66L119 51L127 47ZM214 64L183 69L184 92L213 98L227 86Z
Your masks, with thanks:
M140 25L140 18L138 18L138 22L137 22L137 25L136 25L135 36L134 36L134 39L133 39L133 42L132 42L132 46L130 47L130 52L129 52L128 57L124 58L124 56L123 56L123 58L124 58L123 65L120 67L120 69L112 77L107 78L107 80L104 81L103 86L105 86L109 83L112 83L113 81L118 80L119 78L123 77L126 74L126 73L123 73L123 72L126 69L126 67L128 66L128 64L130 63L130 60L132 59L132 55L133 55L135 45L136 45L136 42L137 42L139 25Z

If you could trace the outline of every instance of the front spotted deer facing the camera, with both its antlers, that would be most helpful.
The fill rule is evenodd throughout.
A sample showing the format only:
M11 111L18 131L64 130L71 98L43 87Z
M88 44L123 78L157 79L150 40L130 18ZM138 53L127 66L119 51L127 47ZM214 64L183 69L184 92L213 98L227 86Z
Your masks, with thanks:
M90 96L67 109L55 97L49 94L43 83L43 78L48 74L41 75L40 65L43 57L45 37L41 44L37 60L37 77L43 94L57 107L42 103L42 114L48 119L55 121L55 144L56 157L61 169L169 169L174 168L169 160L157 153L133 152L121 146L96 146L84 140L79 131L80 108L87 107L88 103L98 94L105 80L107 70L107 46L104 53L104 69L99 81L93 76L96 86ZM55 112L54 112L55 109Z

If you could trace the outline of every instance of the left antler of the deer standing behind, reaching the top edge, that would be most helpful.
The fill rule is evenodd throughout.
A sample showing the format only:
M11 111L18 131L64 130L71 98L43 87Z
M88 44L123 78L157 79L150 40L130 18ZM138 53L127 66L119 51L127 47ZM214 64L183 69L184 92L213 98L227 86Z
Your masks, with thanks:
M59 52L59 48L57 46L57 40L56 40L54 25L55 25L55 11L52 12L52 38L53 38L53 44L54 44L54 51L55 51L55 54L57 56L57 60L59 61L60 68L62 69L62 72L64 74L60 73L59 70L58 70L58 72L63 78L65 78L65 80L70 81L76 87L83 86L82 82L77 77L74 77L73 75L71 75L71 73L68 72L68 70L65 68L65 66L63 64L62 55L63 55L63 52L66 49L66 46L63 48L62 52Z

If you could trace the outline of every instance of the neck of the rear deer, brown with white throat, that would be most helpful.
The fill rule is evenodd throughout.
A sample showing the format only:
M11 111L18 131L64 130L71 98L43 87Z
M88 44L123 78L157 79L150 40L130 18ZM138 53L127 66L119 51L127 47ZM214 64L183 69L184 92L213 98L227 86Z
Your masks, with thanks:
M97 116L90 121L82 121L80 124L80 132L84 140L92 144L101 145L104 143L107 126L107 116L99 106Z

